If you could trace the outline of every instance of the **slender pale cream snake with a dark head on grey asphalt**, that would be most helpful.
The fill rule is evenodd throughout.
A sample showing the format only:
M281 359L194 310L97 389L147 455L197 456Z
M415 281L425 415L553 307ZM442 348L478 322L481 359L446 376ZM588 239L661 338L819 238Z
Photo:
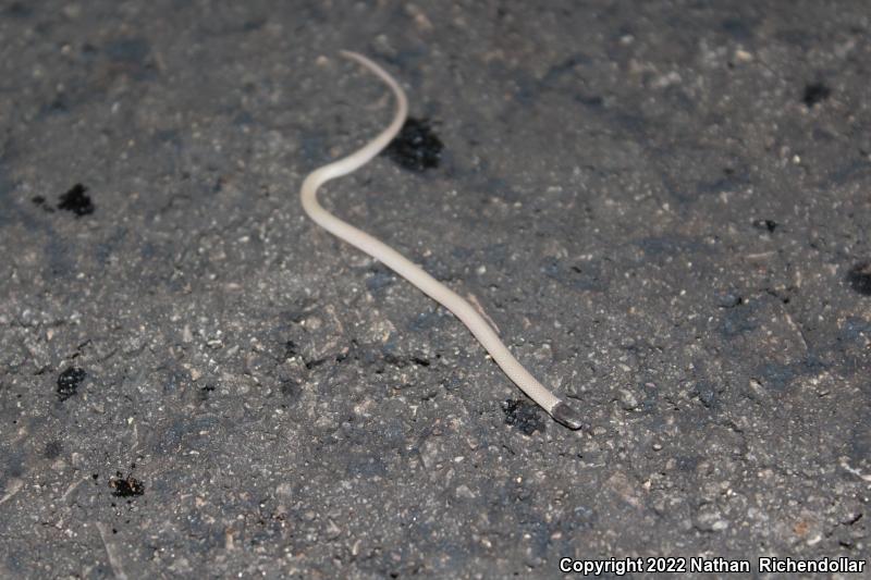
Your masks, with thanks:
M390 125L373 139L353 153L317 168L305 177L299 192L303 209L316 224L380 261L416 286L420 292L453 312L468 328L508 379L526 393L529 398L541 406L560 424L572 430L580 429L582 427L580 414L538 382L511 354L493 328L468 301L380 239L340 220L327 211L318 201L318 189L324 183L355 172L390 145L402 129L408 114L408 99L405 96L405 91L387 71L357 52L342 50L340 54L363 65L390 87L396 101L396 112Z

